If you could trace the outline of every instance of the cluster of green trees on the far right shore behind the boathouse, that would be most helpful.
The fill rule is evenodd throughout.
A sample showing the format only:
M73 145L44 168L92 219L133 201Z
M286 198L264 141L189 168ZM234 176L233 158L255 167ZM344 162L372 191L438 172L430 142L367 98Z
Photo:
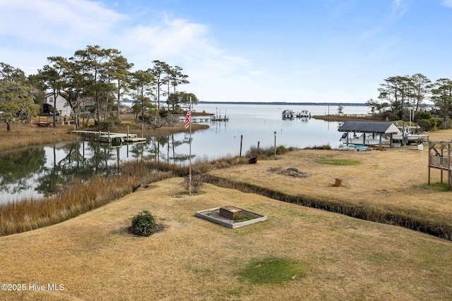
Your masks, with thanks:
M452 80L440 78L435 82L425 75L392 76L378 89L378 99L366 104L374 116L382 119L417 122L424 130L451 128ZM434 107L427 109L427 102Z

